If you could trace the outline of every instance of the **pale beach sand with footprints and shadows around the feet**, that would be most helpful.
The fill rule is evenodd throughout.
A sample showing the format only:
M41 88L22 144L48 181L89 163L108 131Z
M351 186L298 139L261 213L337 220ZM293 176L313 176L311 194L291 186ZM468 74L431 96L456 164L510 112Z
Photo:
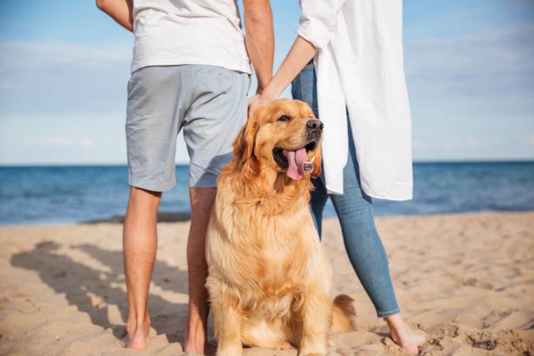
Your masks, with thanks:
M181 355L187 316L189 224L159 224L150 346L125 350L121 226L0 229L1 355ZM534 355L534 212L377 219L405 318L426 332L424 355ZM329 355L403 355L375 315L336 220L323 243L333 295L355 298L357 330ZM246 349L245 355L297 355Z

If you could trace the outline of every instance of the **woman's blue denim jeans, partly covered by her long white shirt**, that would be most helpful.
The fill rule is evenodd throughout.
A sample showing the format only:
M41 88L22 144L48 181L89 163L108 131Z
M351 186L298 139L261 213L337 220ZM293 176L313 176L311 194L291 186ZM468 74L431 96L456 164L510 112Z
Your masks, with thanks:
M318 116L317 78L313 62L293 80L293 99L303 100ZM320 118L320 117L319 117ZM360 170L355 155L354 140L349 125L349 157L343 169L343 194L328 194L325 177L312 179L315 191L311 194L310 209L319 236L323 223L323 210L328 198L340 219L345 250L363 288L372 300L379 318L399 313L399 305L389 276L387 256L378 236L373 216L372 199L360 186ZM325 130L328 123L325 122ZM335 272L335 271L334 271Z

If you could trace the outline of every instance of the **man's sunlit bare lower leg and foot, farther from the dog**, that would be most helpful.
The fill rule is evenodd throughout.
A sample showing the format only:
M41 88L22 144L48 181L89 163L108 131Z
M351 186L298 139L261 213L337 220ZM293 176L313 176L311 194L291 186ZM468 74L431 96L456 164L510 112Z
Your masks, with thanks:
M160 192L136 187L130 189L122 244L128 293L126 347L133 349L147 347L150 330L147 298L156 258L157 208L161 196Z

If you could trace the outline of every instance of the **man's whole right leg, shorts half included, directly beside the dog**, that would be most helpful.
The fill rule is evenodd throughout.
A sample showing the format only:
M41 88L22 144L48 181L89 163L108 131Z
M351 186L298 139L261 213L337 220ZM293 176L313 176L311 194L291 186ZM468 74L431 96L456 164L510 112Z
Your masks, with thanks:
M213 66L186 66L181 90L194 98L184 114L184 141L191 158L191 227L187 241L189 320L186 352L204 352L209 305L206 290L206 229L216 195L216 177L230 162L232 142L246 121L245 73Z

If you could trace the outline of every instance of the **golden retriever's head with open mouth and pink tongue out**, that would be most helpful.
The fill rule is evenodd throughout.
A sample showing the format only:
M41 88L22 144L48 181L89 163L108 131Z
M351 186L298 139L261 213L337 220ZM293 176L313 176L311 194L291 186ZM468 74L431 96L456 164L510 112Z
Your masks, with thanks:
M308 104L276 100L256 109L234 141L236 167L250 177L272 169L298 180L320 174L323 122Z

